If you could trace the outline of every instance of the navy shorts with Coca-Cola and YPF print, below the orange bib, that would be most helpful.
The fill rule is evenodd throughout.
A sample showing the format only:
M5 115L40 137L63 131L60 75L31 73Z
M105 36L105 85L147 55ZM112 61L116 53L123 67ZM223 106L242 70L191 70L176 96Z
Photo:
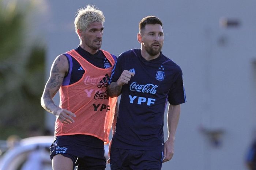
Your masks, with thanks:
M105 170L103 141L89 135L57 136L50 146L50 159L61 154L73 161L78 170Z

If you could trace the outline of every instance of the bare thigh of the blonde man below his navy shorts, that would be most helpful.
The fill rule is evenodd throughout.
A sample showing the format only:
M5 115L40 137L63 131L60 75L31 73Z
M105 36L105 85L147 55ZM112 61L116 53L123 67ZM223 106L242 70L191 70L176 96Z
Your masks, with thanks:
M52 159L53 170L73 170L74 163L71 158L64 157L61 154L57 154Z

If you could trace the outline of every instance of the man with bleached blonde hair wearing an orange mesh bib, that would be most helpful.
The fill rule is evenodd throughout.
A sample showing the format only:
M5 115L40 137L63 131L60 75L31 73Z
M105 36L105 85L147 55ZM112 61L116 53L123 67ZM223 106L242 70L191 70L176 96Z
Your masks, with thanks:
M41 104L56 115L50 147L53 170L104 170L104 143L115 126L117 98L107 94L116 56L101 50L105 16L94 6L79 9L75 30L80 44L57 56ZM60 105L52 98L60 91Z

